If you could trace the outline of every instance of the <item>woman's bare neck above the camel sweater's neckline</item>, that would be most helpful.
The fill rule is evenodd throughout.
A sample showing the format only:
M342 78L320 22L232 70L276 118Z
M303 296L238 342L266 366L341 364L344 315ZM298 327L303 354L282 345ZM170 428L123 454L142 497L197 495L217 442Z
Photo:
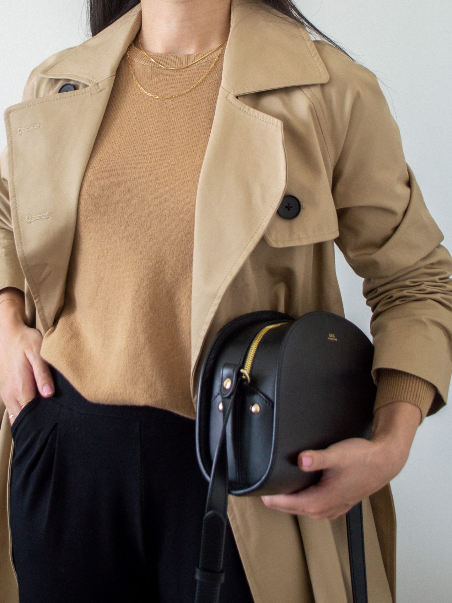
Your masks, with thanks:
M146 52L191 54L227 40L231 0L141 0Z

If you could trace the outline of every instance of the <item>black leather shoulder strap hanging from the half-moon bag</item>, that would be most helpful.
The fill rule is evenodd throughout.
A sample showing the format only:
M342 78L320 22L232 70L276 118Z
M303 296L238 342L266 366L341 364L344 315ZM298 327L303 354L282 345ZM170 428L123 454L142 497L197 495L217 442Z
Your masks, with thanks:
M223 554L228 520L228 459L225 434L241 376L239 368L237 365L230 373L233 375L232 386L225 396L221 396L223 425L210 472L206 513L202 522L201 554L199 566L195 570L195 603L218 603L220 587L225 578ZM224 390L221 390L221 393L223 394ZM368 603L361 501L346 513L346 520L353 603Z

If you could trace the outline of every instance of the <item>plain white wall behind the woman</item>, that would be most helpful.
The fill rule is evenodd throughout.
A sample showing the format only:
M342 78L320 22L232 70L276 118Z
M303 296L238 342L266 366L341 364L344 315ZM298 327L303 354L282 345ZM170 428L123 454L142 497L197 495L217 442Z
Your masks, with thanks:
M298 0L319 29L383 81L407 162L452 251L452 8L446 0ZM87 38L83 0L14 0L0 8L0 110L19 103L31 69ZM0 124L0 148L6 144ZM362 280L336 248L347 318L369 334ZM427 417L391 482L398 603L452 601L452 408ZM302 603L302 602L300 602ZM334 602L331 602L334 603ZM371 602L372 603L372 602Z

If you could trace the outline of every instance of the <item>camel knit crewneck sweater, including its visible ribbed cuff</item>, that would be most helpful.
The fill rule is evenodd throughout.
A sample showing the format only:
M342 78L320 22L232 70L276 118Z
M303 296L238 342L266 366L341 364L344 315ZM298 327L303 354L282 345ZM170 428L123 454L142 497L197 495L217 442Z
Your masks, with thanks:
M152 405L195 418L190 298L196 188L221 83L223 51L119 63L80 188L64 307L41 355L95 403ZM406 400L422 420L430 382L379 371L375 408Z

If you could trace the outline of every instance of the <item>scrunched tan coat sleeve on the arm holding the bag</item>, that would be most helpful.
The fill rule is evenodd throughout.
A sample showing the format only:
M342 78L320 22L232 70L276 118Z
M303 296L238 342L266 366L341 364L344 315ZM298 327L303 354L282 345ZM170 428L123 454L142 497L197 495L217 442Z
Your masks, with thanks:
M375 384L380 368L427 380L435 386L431 415L447 403L452 373L452 257L406 163L377 78L355 69L343 103L346 125L336 140L335 242L363 278Z

